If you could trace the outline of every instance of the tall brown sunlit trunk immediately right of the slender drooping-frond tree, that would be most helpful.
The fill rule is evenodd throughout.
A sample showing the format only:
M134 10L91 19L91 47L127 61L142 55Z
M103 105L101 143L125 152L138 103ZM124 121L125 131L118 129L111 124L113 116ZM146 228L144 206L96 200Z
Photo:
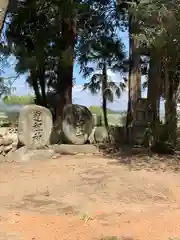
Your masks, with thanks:
M120 14L124 15L125 26L129 32L129 77L128 77L128 109L127 127L133 124L136 118L136 104L141 97L141 58L139 39L139 19L136 16L138 0L126 1L117 0L117 7Z

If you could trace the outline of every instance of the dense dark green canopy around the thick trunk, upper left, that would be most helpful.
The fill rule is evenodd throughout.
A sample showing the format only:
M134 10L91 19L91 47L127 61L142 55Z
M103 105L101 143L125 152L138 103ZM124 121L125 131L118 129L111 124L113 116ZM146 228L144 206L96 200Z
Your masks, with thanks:
M10 14L6 37L18 60L16 71L29 72L27 82L37 99L45 99L47 91L52 90L62 95L63 88L59 86L73 83L73 79L64 79L70 72L72 78L79 43L102 29L114 31L116 15L111 0L18 2L17 12ZM110 23L110 19L115 21Z

